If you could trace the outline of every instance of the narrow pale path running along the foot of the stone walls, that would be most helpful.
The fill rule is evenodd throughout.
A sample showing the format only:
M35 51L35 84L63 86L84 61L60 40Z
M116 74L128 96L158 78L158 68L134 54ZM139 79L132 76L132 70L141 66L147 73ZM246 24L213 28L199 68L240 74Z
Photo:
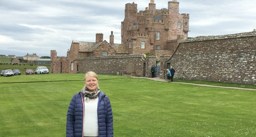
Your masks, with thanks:
M162 81L162 82L167 82L164 79L155 77L155 78L150 78L150 77L140 77L140 76L132 76L133 78L147 78L155 81ZM172 82L172 83L180 83L180 84L189 84L189 85L197 85L197 86L206 86L206 87L219 87L219 88L229 88L229 89L239 89L239 90L255 90L256 89L247 89L247 88L237 88L237 87L222 87L222 86L213 86L213 85L205 85L205 84L194 84L194 83L184 83L184 82Z

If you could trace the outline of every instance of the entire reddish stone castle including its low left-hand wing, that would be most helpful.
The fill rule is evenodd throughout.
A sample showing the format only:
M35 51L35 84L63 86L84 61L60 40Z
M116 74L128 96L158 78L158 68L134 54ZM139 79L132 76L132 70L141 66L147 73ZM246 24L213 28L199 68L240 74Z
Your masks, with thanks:
M76 73L77 58L150 53L172 55L180 40L188 37L189 14L179 14L179 2L168 2L168 9L156 10L151 0L145 11L137 13L137 4L125 4L125 18L121 22L122 44L114 43L111 32L109 43L97 33L95 42L72 41L67 57L58 57L51 50L52 73ZM75 65L74 65L75 64Z

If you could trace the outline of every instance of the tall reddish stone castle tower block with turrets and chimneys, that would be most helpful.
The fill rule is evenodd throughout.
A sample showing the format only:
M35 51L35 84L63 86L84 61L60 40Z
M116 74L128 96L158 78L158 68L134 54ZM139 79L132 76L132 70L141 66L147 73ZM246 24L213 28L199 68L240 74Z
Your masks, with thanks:
M153 56L172 55L180 40L188 38L189 14L179 14L179 2L168 2L168 9L156 10L150 0L144 11L137 4L125 4L121 22L122 44L129 54L150 53Z

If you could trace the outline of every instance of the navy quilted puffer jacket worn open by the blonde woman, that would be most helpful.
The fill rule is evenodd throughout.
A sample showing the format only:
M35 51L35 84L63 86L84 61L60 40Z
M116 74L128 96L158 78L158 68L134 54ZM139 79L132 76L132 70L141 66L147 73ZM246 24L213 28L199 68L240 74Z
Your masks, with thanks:
M99 93L98 101L99 137L113 137L113 116L109 98ZM75 94L69 104L66 125L66 137L83 137L84 93Z

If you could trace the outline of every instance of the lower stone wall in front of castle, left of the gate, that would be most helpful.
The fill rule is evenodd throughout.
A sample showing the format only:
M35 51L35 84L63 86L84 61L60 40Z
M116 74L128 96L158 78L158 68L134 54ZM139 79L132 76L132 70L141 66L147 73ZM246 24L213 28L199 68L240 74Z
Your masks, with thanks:
M152 58L152 57L151 57ZM150 70L148 65L156 62L156 57L153 59L143 54L128 54L128 55L111 55L111 56L96 56L77 58L79 73L94 71L96 74L115 74L119 71L119 75L126 72L128 63L133 63L135 68L135 76L148 76ZM146 71L145 71L146 70Z

